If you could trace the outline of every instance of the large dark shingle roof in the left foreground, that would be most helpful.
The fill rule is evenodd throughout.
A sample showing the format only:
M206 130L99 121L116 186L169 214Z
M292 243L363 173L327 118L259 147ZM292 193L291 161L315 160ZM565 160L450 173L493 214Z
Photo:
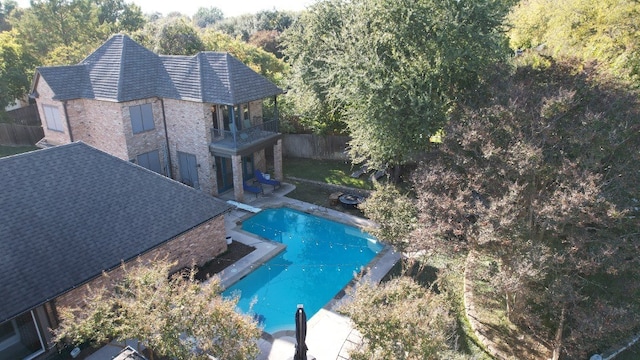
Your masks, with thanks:
M0 323L231 209L84 143L0 158Z

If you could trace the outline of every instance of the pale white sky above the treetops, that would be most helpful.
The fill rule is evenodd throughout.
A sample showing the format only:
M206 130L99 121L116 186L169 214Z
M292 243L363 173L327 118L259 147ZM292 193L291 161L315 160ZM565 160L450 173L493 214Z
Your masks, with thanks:
M217 7L222 10L225 17L242 14L255 14L261 10L292 10L300 11L311 5L315 0L126 0L135 3L142 12L160 12L167 15L172 11L178 11L187 16L193 16L201 8ZM28 7L29 0L18 0L18 6Z

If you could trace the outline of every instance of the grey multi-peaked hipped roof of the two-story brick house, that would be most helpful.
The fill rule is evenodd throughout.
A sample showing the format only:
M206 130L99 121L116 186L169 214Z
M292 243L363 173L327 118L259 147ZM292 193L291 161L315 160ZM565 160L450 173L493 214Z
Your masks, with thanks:
M53 90L53 98L61 101L124 102L157 96L235 105L283 92L227 53L157 55L122 34L109 38L77 65L36 70L36 78L42 76Z

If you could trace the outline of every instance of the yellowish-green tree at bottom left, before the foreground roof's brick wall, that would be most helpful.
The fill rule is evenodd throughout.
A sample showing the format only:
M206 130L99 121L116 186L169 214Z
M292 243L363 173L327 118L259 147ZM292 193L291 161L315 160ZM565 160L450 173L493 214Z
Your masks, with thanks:
M223 299L216 279L197 283L193 271L168 277L171 267L162 261L139 264L126 268L122 278L110 278L108 287L91 291L82 308L61 310L55 341L136 339L152 356L255 358L260 331L235 311L237 299Z

